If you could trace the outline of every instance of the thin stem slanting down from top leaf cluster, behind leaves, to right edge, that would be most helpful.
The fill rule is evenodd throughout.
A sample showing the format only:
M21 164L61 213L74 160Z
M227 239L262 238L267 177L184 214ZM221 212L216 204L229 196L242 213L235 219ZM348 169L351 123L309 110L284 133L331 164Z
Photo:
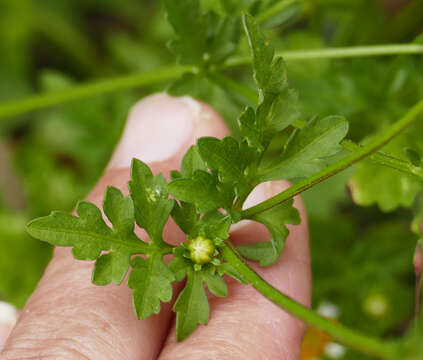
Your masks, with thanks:
M257 94L248 86L236 82L224 74L215 73L213 77L210 77L210 79L213 80L217 85L243 96L246 100L248 100L249 103L257 104ZM299 129L302 129L306 125L307 122L304 120L296 120L293 124L294 127ZM357 151L362 147L361 145L358 145L348 139L341 141L341 145L349 152ZM369 159L376 164L388 166L409 176L417 177L423 181L423 168L415 166L411 162L395 158L380 151L370 155Z

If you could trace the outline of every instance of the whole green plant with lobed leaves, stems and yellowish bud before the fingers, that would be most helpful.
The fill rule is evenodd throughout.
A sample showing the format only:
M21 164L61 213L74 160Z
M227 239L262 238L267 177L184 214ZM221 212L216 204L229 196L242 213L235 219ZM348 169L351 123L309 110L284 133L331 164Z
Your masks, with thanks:
M213 9L204 15L196 1L169 0L166 5L169 20L178 36L171 48L182 66L158 72L156 77L153 73L138 79L96 84L85 88L85 92L70 90L41 100L34 99L26 103L26 110L67 101L72 96L139 85L141 78L142 81L161 81L185 73L170 87L172 93L184 93L187 87L201 91L204 81L212 81L241 94L252 104L257 102L239 117L241 136L238 139L200 139L186 154L181 171L173 172L169 184L162 176L153 176L145 164L134 160L131 196L123 197L114 188L106 192L104 212L113 225L112 229L105 225L99 209L81 202L77 208L79 217L56 212L31 222L28 226L30 233L55 245L73 246L76 258L96 260L93 274L96 284L120 283L131 267L129 286L133 289L136 313L140 318L159 312L160 301L171 298L171 282L187 277L186 286L174 306L180 340L188 336L197 323L207 323L208 303L203 283L215 295L225 296L226 285L221 275L228 274L253 284L278 305L324 329L339 341L377 356L397 356L396 344L385 344L333 324L280 294L249 269L241 257L258 261L262 266L275 262L283 251L288 234L284 224L299 221L292 207L292 198L367 156L374 163L399 170L420 184L422 169L415 152L411 153L409 161L377 150L417 118L423 111L423 103L416 104L366 145L357 145L344 139L348 123L342 117L314 117L307 122L300 118L297 96L288 87L284 63L281 58L274 57L272 48L252 17L244 17L244 27L252 51L258 96L224 73L226 67L242 64L245 60L229 58L239 38L237 18L219 17L216 12L224 14L240 9ZM269 13L271 11L267 10L263 14ZM192 31L192 26L198 31ZM421 51L421 46L411 45L407 49ZM360 50L356 51L360 53ZM0 114L24 111L25 106L12 104L3 108L3 112L0 110ZM296 129L292 131L292 128ZM290 133L289 139L272 144L281 132ZM342 147L351 154L340 152ZM279 156L275 157L274 153ZM274 198L242 210L246 197L255 186L280 178L302 180ZM177 201L170 200L168 192ZM162 239L161 231L169 216L187 234L186 244L172 247ZM246 218L267 226L271 241L234 249L227 241L229 226ZM134 221L147 231L150 243L135 237ZM101 254L102 251L108 253ZM174 254L174 260L166 266L162 257L170 253ZM146 257L131 259L137 254Z

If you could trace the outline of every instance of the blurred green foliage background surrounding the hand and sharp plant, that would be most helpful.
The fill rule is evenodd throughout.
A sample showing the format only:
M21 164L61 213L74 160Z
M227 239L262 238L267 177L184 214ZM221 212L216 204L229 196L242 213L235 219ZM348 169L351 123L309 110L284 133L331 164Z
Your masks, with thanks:
M261 10L277 2L265 0ZM204 0L202 6L214 3ZM423 1L292 1L264 27L277 50L411 43L419 41L423 28ZM166 47L172 35L159 1L0 0L0 105L174 64ZM248 54L245 39L238 52ZM421 55L287 64L303 118L344 115L351 123L349 137L356 141L392 123L423 97ZM228 73L252 86L248 66ZM1 300L22 307L51 256L50 247L25 233L26 222L53 209L71 210L101 175L130 106L168 86L0 119ZM236 133L243 99L206 80L185 92L211 103ZM423 124L385 150L404 158L406 146L423 154ZM410 223L422 208L421 190L415 179L363 162L304 195L315 308L329 302L340 321L371 334L404 332L414 296L417 236ZM347 351L343 358L364 357Z

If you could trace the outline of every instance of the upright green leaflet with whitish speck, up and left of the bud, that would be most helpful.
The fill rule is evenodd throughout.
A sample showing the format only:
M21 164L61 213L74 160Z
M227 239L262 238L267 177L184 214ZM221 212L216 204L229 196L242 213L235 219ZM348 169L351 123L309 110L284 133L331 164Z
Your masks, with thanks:
M174 205L168 198L166 179L162 174L153 176L146 164L133 159L129 190L137 224L147 231L152 242L164 246L162 231Z

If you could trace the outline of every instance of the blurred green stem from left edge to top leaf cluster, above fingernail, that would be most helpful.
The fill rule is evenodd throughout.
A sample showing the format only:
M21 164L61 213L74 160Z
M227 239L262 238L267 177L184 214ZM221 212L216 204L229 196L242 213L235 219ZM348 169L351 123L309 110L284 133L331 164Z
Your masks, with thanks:
M75 100L85 99L95 95L118 90L132 89L142 85L161 83L167 80L176 79L186 71L192 71L192 67L173 66L159 68L148 73L115 77L108 80L75 86L62 91L35 95L23 100L9 101L7 103L0 104L0 119Z

